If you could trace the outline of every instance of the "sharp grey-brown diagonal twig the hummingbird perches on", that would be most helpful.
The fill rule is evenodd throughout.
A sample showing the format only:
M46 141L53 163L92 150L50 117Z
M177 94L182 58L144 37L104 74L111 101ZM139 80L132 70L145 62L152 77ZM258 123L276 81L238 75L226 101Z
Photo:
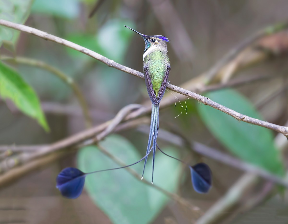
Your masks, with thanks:
M124 71L124 72L126 72L128 74L135 75L135 76L140 77L140 78L144 78L143 73L141 73L139 71L136 71L136 70L133 70L133 69L130 69L130 68L128 68L128 67L126 67L126 66L124 66L122 64L116 63L113 60L110 60L110 59L102 56L101 54L93 52L93 51L91 51L91 50L89 50L87 48L84 48L84 47L82 47L82 46L80 46L78 44L72 43L71 41L67 41L67 40L62 39L60 37L56 37L54 35L51 35L51 34L48 34L46 32L37 30L35 28L31 28L29 26L17 24L17 23L14 23L14 22L9 22L7 20L2 20L1 19L0 20L0 25L6 26L6 27L10 27L10 28L13 28L13 29L16 29L16 30L19 30L19 31L23 31L23 32L26 32L26 33L30 33L30 34L33 34L35 36L41 37L41 38L43 38L45 40L50 40L50 41L53 41L55 43L60 43L60 44L62 44L64 46L67 46L69 48L72 48L74 50L82 52L84 54L87 54L88 56L90 56L92 58L95 58L95 59L107 64L109 67L113 67L115 69L119 69L120 71ZM282 27L280 25L278 25L278 26L280 28ZM280 29L280 28L278 28L278 29ZM275 30L276 30L276 28L275 28ZM233 53L233 55L234 54L235 53ZM234 111L232 109L224 107L223 105L220 105L220 104L210 100L209 98L206 98L204 96L201 96L201 95L196 94L194 92L191 92L189 90L185 90L185 89L183 89L181 87L171 85L170 83L167 85L167 88L170 89L170 90L173 90L174 92L177 92L177 93L180 93L182 95L191 97L191 98L193 98L195 100L198 100L199 102L202 102L204 105L208 105L208 106L213 107L213 108L215 108L215 109L217 109L219 111L227 113L227 114L229 114L230 116L236 118L239 121L243 121L243 122L247 122L249 124L255 124L255 125L258 125L258 126L262 126L264 128L268 128L268 129L274 130L276 132L282 133L285 136L288 136L288 127L272 124L272 123L265 122L265 121L262 121L262 120L259 120L259 119L255 119L253 117L248 117L248 116L243 115L241 113L238 113L238 112L236 112L236 111Z

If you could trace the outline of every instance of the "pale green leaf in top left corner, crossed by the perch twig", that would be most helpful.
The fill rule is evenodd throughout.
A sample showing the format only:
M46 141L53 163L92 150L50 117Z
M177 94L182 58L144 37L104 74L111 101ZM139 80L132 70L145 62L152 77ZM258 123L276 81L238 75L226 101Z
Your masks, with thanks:
M33 0L1 0L0 18L24 24L30 14L32 2ZM19 34L20 31L0 26L0 47L4 42L9 50L14 50Z

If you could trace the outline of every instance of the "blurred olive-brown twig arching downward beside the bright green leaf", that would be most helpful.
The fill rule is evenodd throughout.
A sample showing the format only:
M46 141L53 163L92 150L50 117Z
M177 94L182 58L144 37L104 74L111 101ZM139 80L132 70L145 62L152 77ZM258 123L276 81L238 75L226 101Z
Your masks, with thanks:
M52 67L51 65L49 65L43 61L35 60L32 58L24 58L24 57L11 58L11 57L7 57L7 56L0 56L0 60L12 61L12 62L16 62L19 64L26 64L26 65L30 65L33 67L45 69L45 70L50 71L51 73L55 74L60 79L62 79L69 87L71 87L76 98L78 99L79 105L82 108L82 112L83 112L83 115L85 118L86 126L88 128L90 128L92 126L92 119L91 119L91 116L89 113L89 109L88 109L88 105L87 105L87 102L85 100L85 97L83 96L79 86L73 80L72 77L67 76L65 73L63 73L59 69L56 69L55 67Z

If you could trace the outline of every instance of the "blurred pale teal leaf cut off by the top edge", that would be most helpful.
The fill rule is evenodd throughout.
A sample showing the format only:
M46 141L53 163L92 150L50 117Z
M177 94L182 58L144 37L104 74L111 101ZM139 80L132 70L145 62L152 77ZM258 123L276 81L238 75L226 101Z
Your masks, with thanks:
M80 0L34 0L33 13L47 14L67 19L79 16Z

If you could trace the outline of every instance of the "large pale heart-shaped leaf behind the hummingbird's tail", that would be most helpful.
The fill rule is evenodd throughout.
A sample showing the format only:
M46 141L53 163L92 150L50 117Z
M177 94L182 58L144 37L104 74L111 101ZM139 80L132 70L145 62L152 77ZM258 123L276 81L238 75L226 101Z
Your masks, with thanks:
M126 164L132 164L142 157L130 142L118 135L107 137L101 145ZM167 152L167 149L164 150ZM145 147L143 155L144 151ZM177 149L169 148L167 153L177 156L176 152ZM84 172L119 167L95 146L82 148L77 155L77 163ZM148 160L144 176L148 180L151 180L151 167L151 161ZM132 168L141 175L143 162ZM177 161L156 153L154 184L171 192L176 191L180 172ZM113 223L150 223L169 200L163 193L137 180L125 169L89 175L86 177L85 188L94 203Z

